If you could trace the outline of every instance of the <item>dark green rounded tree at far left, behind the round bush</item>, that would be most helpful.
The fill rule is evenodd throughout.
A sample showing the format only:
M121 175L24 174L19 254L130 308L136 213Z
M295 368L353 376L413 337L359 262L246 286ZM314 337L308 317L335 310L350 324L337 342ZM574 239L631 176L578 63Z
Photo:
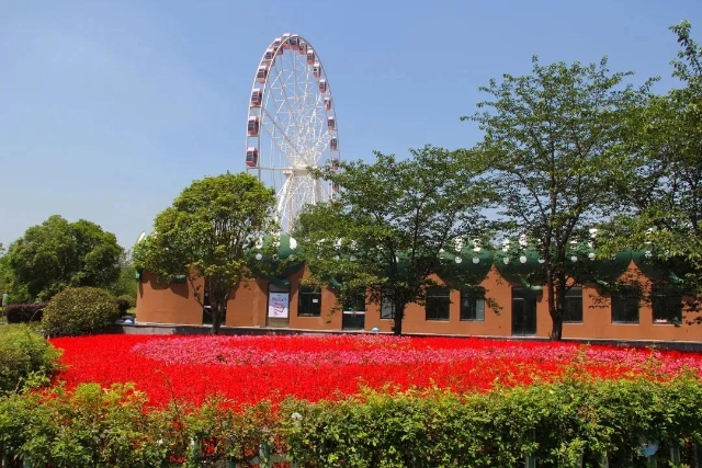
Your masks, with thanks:
M122 247L94 222L59 215L29 228L8 249L13 287L48 300L68 286L109 287L120 274Z

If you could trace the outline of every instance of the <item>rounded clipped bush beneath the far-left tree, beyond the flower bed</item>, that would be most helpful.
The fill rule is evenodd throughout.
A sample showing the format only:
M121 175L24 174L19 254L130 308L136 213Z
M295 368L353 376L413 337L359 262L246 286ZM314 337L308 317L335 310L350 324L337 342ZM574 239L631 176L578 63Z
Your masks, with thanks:
M120 318L114 297L97 287L70 287L44 308L42 326L49 336L82 335L105 331Z

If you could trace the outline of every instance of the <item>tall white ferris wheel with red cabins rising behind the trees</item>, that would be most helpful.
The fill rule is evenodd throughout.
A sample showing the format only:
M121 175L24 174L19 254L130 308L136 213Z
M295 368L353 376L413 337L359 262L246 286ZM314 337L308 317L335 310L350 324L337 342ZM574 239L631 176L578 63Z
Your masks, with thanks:
M306 204L331 199L338 187L309 168L339 167L339 130L331 87L317 52L297 34L265 49L256 71L247 122L247 172L275 189L278 221L290 232Z

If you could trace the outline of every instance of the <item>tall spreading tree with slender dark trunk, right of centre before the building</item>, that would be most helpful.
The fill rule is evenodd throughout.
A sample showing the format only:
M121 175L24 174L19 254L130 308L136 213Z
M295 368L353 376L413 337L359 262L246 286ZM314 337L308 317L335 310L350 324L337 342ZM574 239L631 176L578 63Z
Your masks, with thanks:
M631 178L621 150L627 116L645 102L650 81L625 85L631 72L610 73L607 59L582 66L533 60L532 75L505 75L480 90L490 101L473 116L485 130L477 150L489 172L508 235L526 235L543 259L552 319L561 340L565 295L573 284L571 241L619 208L614 187Z

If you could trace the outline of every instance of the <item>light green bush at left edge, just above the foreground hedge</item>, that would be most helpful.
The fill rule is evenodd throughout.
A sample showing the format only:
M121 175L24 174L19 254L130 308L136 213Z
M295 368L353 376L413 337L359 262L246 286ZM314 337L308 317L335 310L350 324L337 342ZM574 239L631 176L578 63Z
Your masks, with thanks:
M60 354L25 324L0 327L0 396L21 389L29 378L49 377Z

